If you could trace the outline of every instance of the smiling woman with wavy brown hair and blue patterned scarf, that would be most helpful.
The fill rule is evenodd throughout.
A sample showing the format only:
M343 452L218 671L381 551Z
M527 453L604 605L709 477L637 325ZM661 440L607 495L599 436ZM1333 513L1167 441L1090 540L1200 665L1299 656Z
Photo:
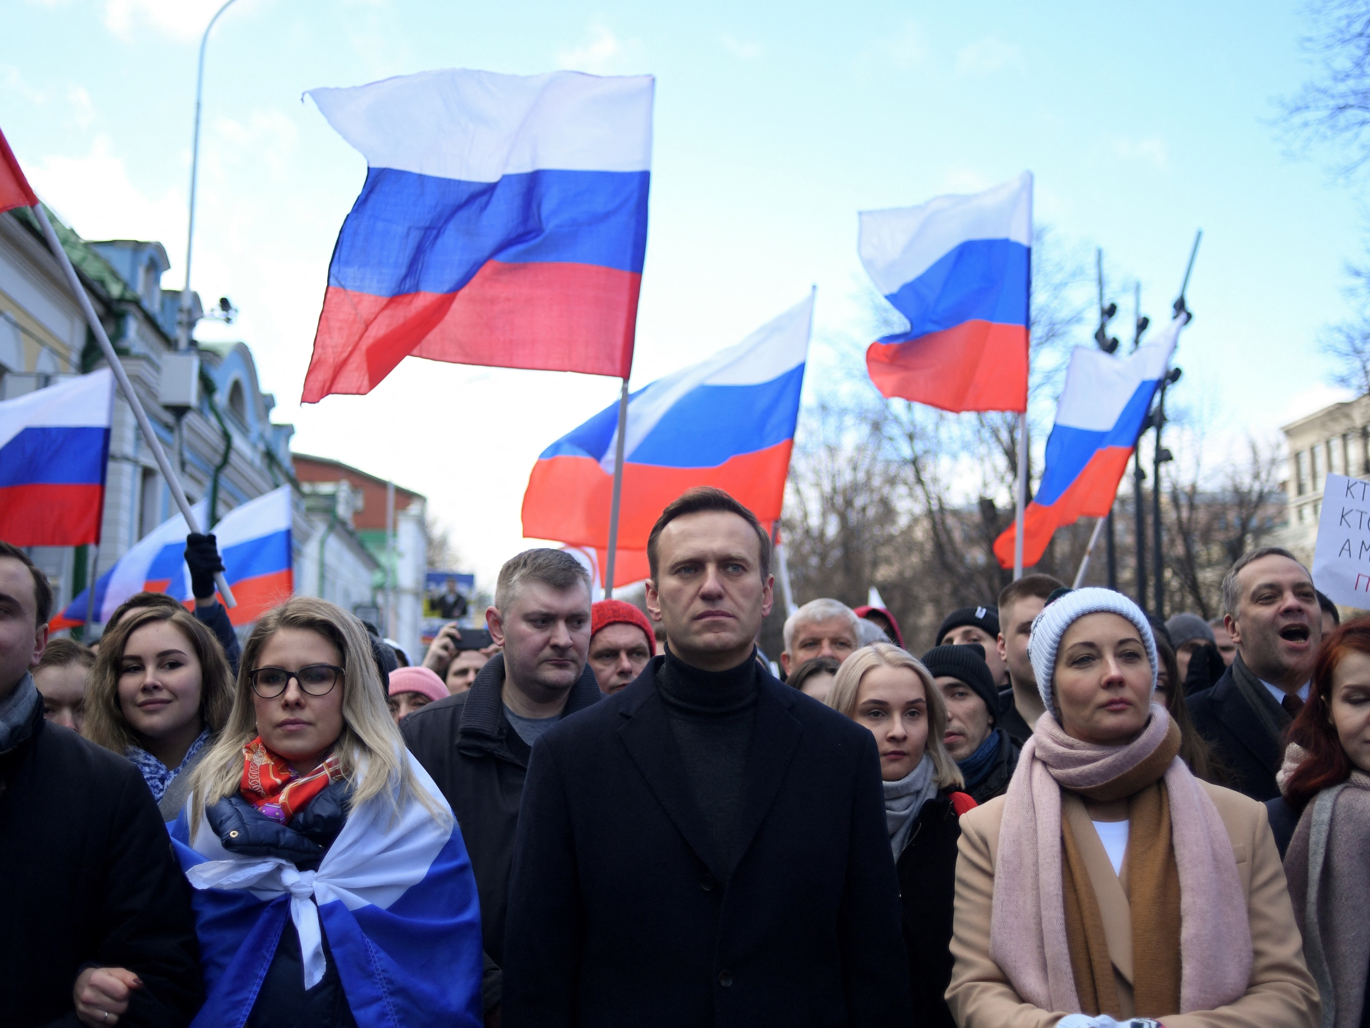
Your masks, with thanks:
M182 607L138 607L100 640L81 733L133 761L162 820L174 821L232 694L227 658L208 628Z

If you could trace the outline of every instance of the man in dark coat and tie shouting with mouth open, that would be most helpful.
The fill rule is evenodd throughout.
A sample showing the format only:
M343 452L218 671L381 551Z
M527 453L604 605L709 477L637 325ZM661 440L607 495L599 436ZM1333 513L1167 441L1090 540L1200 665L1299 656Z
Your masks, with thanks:
M1237 657L1211 689L1189 698L1189 715L1226 784L1263 802L1280 795L1284 735L1308 699L1322 611L1308 570L1278 547L1241 556L1222 580L1222 603Z

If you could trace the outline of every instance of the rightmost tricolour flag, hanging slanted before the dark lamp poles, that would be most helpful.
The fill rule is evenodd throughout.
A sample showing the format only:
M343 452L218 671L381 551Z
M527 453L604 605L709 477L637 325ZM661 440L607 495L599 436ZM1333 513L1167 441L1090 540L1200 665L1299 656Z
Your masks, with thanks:
M1180 329L1175 318L1128 358L1093 347L1075 347L1066 369L1066 388L1056 404L1056 424L1047 437L1047 466L1037 495L1023 513L1023 566L1041 559L1051 533L1081 517L1101 518L1112 510L1118 481L1137 445ZM995 540L995 556L1014 566L1014 529Z

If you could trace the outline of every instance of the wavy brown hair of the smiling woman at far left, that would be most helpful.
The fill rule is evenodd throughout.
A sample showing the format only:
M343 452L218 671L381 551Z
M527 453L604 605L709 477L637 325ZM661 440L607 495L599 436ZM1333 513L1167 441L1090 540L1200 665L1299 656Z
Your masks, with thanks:
M200 722L216 733L229 720L233 673L214 633L185 607L137 607L100 640L100 652L88 678L86 714L81 725L81 735L121 757L130 746L141 746L119 706L123 651L129 636L155 621L164 621L181 632L200 661Z

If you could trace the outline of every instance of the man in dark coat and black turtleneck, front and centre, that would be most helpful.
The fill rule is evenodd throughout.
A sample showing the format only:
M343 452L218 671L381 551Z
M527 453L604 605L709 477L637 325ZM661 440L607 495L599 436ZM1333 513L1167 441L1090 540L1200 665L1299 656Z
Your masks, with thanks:
M533 747L504 1024L907 1027L874 736L754 658L770 537L690 489L648 562L669 652Z

